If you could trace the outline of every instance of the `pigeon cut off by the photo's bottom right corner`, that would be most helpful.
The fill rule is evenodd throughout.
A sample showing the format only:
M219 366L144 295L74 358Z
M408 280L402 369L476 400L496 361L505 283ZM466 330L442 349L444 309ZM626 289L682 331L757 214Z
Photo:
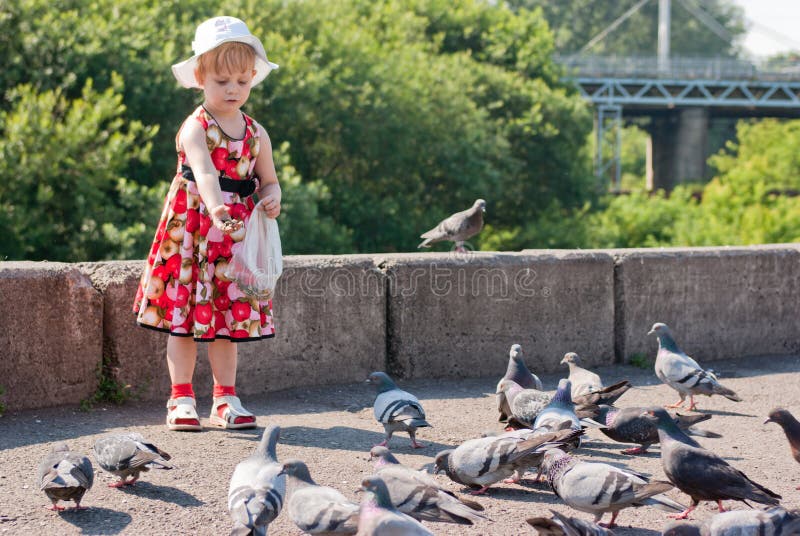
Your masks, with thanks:
M800 510L730 510L703 522L673 521L662 536L792 536L800 534Z

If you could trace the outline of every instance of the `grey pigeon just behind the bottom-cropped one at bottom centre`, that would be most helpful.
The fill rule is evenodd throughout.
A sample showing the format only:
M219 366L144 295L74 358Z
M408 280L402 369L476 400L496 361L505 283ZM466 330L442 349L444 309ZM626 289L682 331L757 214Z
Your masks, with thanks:
M429 474L402 465L386 447L372 447L369 455L376 460L375 474L386 483L392 504L404 514L420 521L460 525L488 519L478 513L483 506L459 499Z

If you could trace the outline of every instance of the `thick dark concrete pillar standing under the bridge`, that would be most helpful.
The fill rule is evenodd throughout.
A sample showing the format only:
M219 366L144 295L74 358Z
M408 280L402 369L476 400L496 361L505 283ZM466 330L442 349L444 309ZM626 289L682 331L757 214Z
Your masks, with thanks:
M684 108L653 117L648 132L648 189L672 190L678 183L703 179L708 156L708 110Z

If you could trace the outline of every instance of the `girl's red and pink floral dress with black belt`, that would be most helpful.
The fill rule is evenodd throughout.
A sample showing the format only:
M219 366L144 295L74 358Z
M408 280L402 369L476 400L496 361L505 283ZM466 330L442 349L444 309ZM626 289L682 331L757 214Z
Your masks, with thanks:
M155 239L139 282L133 311L145 328L197 341L255 341L275 335L272 301L246 296L225 276L232 255L242 246L255 202L247 193L254 181L259 149L258 124L245 114L242 139L225 134L199 106L187 121L199 121L214 167L220 171L225 205L244 225L229 235L211 223L186 155L178 149L178 171L164 201ZM226 191L226 190L239 190Z

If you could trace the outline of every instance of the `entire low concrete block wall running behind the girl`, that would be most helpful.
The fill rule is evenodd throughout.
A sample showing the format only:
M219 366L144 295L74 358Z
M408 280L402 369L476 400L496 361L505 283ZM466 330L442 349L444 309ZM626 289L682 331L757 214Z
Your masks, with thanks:
M260 393L403 377L501 375L513 343L536 372L565 352L590 365L653 357L669 324L701 361L800 353L800 250L741 248L295 256L275 338L239 346L237 389ZM105 360L165 400L167 336L135 325L143 261L0 263L0 386L10 410L73 404ZM210 393L205 346L194 383Z

